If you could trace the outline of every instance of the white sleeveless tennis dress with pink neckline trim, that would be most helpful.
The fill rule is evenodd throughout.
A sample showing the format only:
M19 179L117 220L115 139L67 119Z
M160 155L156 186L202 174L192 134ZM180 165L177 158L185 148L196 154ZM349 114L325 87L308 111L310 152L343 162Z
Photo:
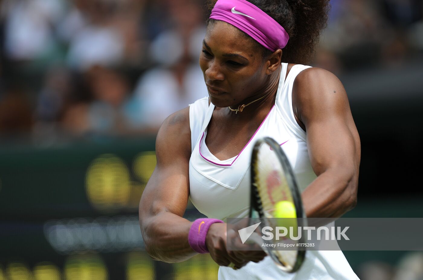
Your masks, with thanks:
M208 97L190 104L191 158L190 198L209 218L223 221L247 217L250 207L250 155L255 140L272 137L281 147L296 174L301 191L316 178L308 157L306 135L292 111L292 87L298 73L310 66L294 65L286 77L282 63L275 105L238 156L220 161L208 150L205 138L214 105ZM238 270L220 266L219 280L356 280L342 251L307 251L305 262L294 274L281 271L269 256L249 262Z

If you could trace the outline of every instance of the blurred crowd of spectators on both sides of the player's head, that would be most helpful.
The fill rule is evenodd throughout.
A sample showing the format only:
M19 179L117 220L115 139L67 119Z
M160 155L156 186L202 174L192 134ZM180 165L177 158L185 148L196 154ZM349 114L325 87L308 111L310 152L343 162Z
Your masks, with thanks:
M423 52L421 0L331 0L313 66L339 75ZM0 135L54 144L157 132L207 95L202 0L0 1Z

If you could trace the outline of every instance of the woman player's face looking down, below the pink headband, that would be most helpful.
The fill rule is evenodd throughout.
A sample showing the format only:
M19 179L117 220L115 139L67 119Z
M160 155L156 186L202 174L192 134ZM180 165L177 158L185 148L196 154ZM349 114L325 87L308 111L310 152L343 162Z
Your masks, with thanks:
M210 23L203 40L200 67L211 102L234 106L259 93L268 75L261 51L232 25Z

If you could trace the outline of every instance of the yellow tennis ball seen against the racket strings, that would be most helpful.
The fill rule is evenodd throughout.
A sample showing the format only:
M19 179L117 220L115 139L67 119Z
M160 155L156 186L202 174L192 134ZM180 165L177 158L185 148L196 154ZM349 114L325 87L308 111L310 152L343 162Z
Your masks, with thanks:
M283 200L275 204L275 211L273 217L276 219L276 226L285 227L288 230L287 237L289 238L290 227L293 227L293 236L297 236L297 211L295 205L291 201Z

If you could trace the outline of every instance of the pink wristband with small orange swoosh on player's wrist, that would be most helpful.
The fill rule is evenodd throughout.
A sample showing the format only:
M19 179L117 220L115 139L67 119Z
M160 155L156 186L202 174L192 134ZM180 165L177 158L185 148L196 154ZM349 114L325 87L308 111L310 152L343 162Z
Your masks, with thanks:
M209 250L206 246L206 236L211 224L214 224L215 222L223 221L217 219L204 218L197 219L192 223L190 232L188 233L188 243L190 244L191 248L194 249L195 252L201 254L209 253Z

